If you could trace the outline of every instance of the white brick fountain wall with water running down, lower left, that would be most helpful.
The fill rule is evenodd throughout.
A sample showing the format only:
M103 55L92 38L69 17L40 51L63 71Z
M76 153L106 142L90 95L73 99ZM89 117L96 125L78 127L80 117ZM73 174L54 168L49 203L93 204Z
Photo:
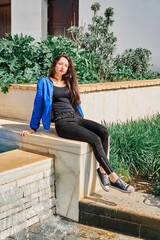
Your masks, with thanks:
M19 168L19 171L25 174L24 169ZM0 183L0 239L53 215L56 204L54 191L54 168Z

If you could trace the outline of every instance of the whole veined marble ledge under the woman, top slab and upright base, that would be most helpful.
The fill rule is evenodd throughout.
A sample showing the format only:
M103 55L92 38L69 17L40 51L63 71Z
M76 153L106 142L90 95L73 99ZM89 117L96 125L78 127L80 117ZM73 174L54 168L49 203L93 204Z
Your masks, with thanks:
M51 158L53 156L55 159L58 214L78 221L79 200L100 189L95 171L97 162L91 147L85 142L58 137L53 126L50 131L45 131L40 127L34 134L25 137L20 136L20 132L28 128L28 124L24 122L0 119L0 143L14 145L22 150L36 152ZM43 163L44 161L39 162ZM42 163L40 163L40 166ZM23 168L27 168L27 166ZM41 168L43 169L43 166ZM11 171L8 171L7 178L3 177L3 183L11 177ZM49 172L46 172L44 175L49 174ZM1 175L3 175L3 172ZM41 178L42 176L37 177ZM22 182L19 184L23 185ZM12 189L13 187L9 185L9 188ZM36 189L36 186L33 184L34 189Z

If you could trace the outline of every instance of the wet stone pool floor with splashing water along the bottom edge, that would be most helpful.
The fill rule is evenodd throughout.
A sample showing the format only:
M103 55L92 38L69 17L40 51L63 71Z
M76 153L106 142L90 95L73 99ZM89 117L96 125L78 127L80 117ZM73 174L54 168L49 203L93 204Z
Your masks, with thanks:
M38 223L23 230L17 235L10 236L6 240L136 240L126 236L102 229L78 224L59 216L53 216L43 223Z

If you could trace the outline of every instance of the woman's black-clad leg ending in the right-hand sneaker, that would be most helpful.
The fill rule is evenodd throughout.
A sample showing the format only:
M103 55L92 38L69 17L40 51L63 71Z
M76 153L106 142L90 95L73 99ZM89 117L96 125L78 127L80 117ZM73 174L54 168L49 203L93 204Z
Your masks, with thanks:
M66 122L65 120L61 120L58 124L56 124L57 134L60 137L88 142L93 148L97 161L109 175L111 186L122 192L133 192L134 187L122 181L112 170L112 167L107 159L107 155L103 149L101 138L94 132L78 125L78 122L79 121ZM102 177L103 174L100 174L100 176ZM104 190L108 191L107 187L105 189L104 183L102 183L102 187Z

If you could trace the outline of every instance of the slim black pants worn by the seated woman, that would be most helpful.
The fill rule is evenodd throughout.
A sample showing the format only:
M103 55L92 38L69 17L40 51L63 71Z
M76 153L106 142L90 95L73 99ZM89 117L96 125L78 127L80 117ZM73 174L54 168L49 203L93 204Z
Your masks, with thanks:
M86 120L77 113L67 113L55 120L55 128L60 137L89 143L100 166L107 174L113 172L107 159L109 135L103 125Z

